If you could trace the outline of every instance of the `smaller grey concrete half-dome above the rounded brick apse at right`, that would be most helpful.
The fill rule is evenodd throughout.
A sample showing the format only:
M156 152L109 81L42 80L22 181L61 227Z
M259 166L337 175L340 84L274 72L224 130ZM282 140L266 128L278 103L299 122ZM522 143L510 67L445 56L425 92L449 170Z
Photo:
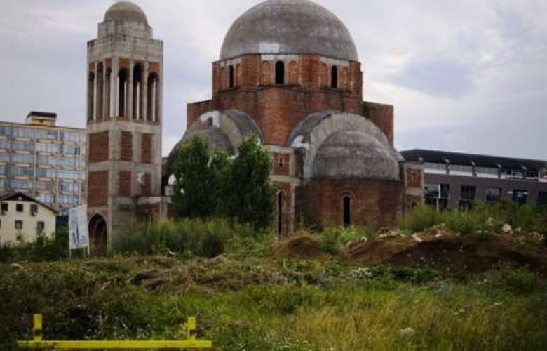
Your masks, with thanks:
M398 161L389 148L360 131L330 135L319 147L314 168L318 178L399 179Z

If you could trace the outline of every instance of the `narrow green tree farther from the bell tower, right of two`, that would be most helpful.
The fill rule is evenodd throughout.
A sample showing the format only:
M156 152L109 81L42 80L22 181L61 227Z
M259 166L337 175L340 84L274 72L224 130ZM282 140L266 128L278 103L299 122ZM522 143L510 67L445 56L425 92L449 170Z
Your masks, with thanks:
M231 164L227 187L227 215L257 230L271 225L276 188L270 181L271 154L257 135L244 138Z

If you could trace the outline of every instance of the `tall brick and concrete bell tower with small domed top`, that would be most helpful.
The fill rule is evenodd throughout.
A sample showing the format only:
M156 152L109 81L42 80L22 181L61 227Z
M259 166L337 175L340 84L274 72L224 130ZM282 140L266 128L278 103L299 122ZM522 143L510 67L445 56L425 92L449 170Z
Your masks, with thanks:
M161 194L163 42L139 6L108 9L88 42L86 74L90 241L106 251L137 220L140 200Z

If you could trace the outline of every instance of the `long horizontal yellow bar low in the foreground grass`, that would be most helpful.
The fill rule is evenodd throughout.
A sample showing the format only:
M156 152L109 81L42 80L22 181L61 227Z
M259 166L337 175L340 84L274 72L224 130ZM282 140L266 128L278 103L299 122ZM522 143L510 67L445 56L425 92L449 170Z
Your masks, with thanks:
M168 349L168 348L194 348L210 349L211 340L88 340L88 341L18 341L21 348L40 349Z

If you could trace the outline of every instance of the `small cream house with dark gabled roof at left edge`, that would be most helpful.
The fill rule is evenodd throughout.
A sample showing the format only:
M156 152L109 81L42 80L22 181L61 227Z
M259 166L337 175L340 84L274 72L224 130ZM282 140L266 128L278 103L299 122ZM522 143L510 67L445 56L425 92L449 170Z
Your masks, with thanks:
M22 192L0 196L0 245L36 240L55 233L57 211Z

